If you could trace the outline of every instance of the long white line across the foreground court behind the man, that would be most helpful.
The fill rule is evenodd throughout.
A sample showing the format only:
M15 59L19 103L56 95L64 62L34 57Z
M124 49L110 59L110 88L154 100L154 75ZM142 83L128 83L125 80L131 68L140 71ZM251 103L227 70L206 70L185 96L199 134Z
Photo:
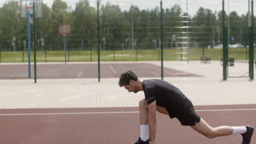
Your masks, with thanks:
M223 110L196 110L196 111L256 111L256 109L223 109ZM139 113L139 111L116 111L116 112L63 112L63 113L11 113L11 114L0 114L0 116L84 115L84 114L111 114L111 113Z

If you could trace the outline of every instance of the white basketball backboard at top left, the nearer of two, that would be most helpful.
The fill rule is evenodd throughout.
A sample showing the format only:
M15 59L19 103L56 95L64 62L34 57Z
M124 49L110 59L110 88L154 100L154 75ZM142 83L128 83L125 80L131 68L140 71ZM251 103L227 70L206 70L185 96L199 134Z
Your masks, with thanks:
M21 0L20 1L20 16L27 17L27 11L30 11L30 14L33 14L33 3L35 17L43 17L43 1L39 0Z

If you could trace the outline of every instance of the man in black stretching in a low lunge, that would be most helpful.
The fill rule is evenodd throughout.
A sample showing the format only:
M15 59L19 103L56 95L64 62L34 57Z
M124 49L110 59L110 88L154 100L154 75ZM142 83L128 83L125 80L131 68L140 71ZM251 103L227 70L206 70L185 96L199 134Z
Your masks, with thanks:
M158 79L139 81L136 74L129 70L121 75L119 86L125 87L128 92L144 91L145 94L145 98L139 101L141 136L133 144L156 143L156 111L164 113L170 118L176 117L182 125L189 125L209 139L217 136L241 134L243 141L240 144L251 142L253 127L249 125L243 127L211 127L196 114L191 101L177 87L166 81ZM147 136L148 127L149 136Z

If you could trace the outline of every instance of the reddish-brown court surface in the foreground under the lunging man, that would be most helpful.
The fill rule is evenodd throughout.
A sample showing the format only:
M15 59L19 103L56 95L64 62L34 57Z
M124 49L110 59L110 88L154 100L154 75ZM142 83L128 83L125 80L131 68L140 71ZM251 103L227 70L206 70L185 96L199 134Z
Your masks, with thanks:
M195 106L213 127L256 125L256 105ZM132 143L139 136L138 107L2 109L0 143ZM157 143L239 143L240 134L207 139L176 118L157 113ZM255 134L252 143L256 143Z

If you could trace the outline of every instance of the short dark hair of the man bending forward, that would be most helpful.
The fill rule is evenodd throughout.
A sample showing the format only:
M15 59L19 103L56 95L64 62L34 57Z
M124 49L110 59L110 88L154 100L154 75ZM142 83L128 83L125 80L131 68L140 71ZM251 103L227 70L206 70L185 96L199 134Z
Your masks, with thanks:
M118 85L123 87L123 85L129 85L130 80L138 81L138 77L131 70L125 71L124 74L121 74Z

